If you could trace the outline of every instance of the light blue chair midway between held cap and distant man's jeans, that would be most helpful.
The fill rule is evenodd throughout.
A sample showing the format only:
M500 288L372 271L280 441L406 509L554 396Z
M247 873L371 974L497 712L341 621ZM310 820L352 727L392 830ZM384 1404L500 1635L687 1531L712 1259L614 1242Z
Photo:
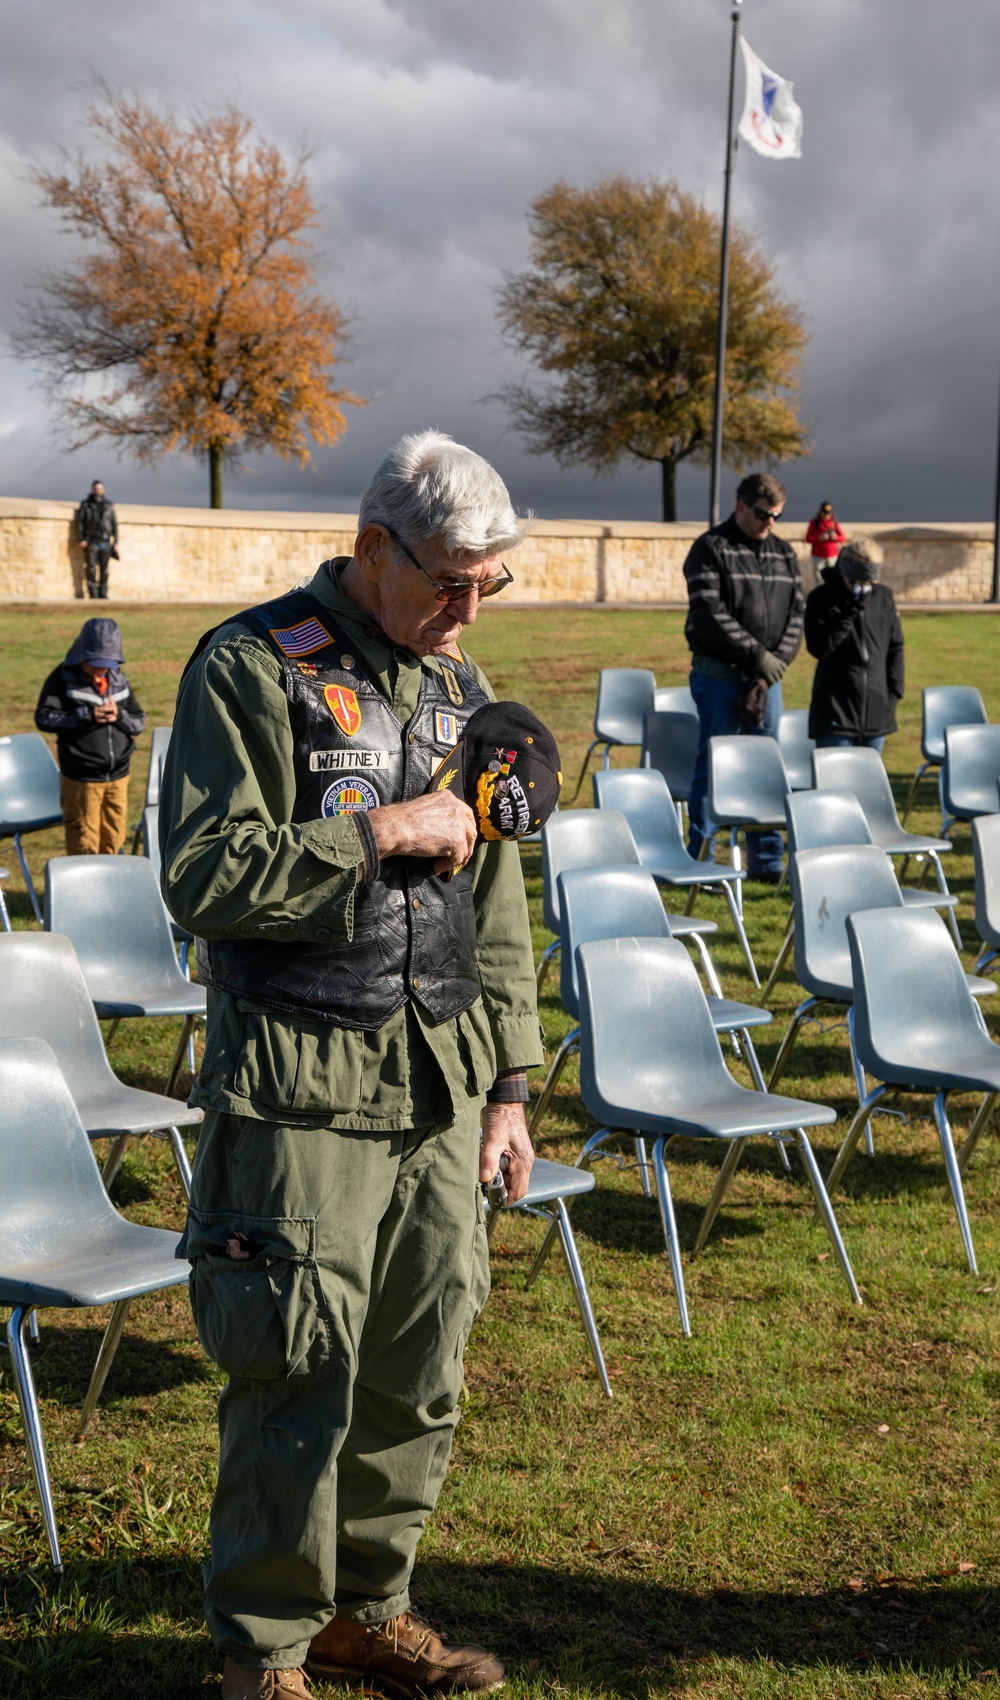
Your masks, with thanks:
M607 809L619 809L624 814L643 867L650 870L658 886L687 891L687 910L701 889L723 892L740 949L747 957L750 978L759 986L757 964L735 896L740 882L747 877L745 869L724 867L721 862L696 862L680 836L680 823L663 775L656 768L641 767L595 774L594 801L602 814Z

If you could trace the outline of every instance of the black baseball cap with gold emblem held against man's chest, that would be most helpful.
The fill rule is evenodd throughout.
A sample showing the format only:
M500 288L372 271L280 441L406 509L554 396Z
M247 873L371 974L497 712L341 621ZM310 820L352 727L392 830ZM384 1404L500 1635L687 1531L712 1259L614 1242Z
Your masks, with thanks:
M560 799L556 740L522 702L488 702L430 777L476 816L480 838L524 838L544 826Z

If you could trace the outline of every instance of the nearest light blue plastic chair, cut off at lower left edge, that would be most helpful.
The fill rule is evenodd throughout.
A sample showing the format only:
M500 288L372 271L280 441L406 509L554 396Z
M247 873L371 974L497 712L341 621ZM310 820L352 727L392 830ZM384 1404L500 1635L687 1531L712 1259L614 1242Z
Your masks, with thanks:
M180 1287L180 1236L139 1227L114 1209L56 1057L41 1039L0 1040L0 1304L7 1348L49 1552L63 1569L41 1413L26 1329L44 1306L112 1312L73 1438L83 1440L114 1362L133 1299Z

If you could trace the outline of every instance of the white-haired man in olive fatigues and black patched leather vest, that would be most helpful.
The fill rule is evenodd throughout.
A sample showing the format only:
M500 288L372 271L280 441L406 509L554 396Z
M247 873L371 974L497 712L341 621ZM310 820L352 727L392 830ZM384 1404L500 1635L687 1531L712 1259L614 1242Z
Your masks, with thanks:
M532 1163L517 847L476 848L466 802L425 794L491 700L459 638L522 530L480 456L403 437L354 554L209 632L180 685L160 824L209 986L182 1255L230 1377L206 1569L224 1700L303 1697L303 1666L503 1680L410 1610L410 1572L490 1285L480 1182L507 1168L515 1200Z

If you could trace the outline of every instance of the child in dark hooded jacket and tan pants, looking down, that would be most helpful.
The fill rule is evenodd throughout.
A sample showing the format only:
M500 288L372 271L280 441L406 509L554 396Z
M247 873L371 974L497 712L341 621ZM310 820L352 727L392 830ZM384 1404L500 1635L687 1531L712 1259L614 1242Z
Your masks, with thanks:
M146 716L122 668L117 620L87 620L34 711L37 729L56 734L66 855L117 855L124 845L129 762Z

